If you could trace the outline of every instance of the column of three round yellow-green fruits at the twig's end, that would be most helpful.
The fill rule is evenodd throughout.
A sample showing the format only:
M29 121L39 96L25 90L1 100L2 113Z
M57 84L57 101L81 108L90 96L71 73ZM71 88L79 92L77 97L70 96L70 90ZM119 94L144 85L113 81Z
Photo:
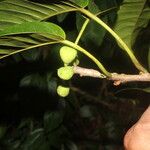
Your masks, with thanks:
M62 46L59 51L64 66L57 70L58 77L62 80L70 80L74 74L73 66L70 66L77 57L77 50L69 46ZM68 96L70 88L64 85L57 87L57 94L61 97Z

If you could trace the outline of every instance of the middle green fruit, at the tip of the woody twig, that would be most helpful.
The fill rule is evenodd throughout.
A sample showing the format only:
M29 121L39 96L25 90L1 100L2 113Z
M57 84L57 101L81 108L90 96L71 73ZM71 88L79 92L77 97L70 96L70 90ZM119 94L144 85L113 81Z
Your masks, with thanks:
M71 66L61 67L57 70L57 74L59 78L63 80L69 80L72 78L74 74L73 67Z

